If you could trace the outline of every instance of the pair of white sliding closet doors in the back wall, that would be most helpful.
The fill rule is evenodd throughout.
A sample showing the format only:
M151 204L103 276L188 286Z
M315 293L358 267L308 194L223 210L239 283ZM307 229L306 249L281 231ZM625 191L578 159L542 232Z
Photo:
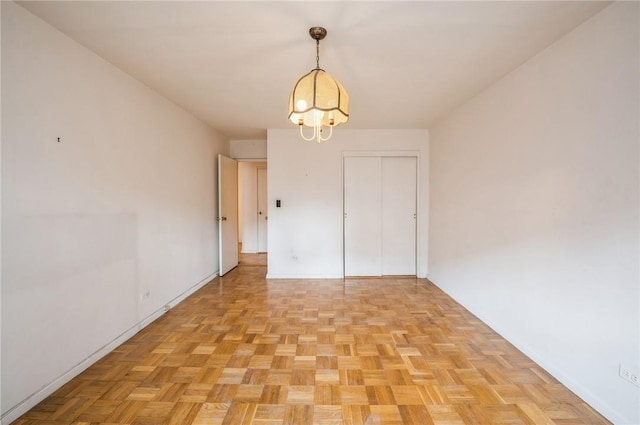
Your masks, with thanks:
M344 158L344 274L416 274L417 158Z

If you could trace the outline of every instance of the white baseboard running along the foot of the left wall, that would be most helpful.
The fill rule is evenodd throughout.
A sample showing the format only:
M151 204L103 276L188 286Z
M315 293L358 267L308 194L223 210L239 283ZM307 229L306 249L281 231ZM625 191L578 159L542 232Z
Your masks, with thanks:
M89 366L100 360L102 357L109 354L116 347L121 345L123 342L127 341L129 338L140 332L146 326L148 326L151 322L156 320L158 317L165 314L171 308L175 307L177 304L181 303L185 300L189 295L196 292L198 289L202 288L207 283L211 282L218 276L218 272L215 272L206 278L202 279L200 282L196 283L177 297L169 300L164 306L158 308L156 311L148 315L147 317L140 320L138 323L118 335L112 341L100 347L98 350L90 354L87 358L82 360L77 365L73 366L67 372L60 375L58 378L54 379L52 382L44 385L38 391L31 394L29 397L22 400L20 403L16 404L2 416L0 416L0 425L3 423L11 423L18 419L20 416L27 413L30 409L34 408L38 403L42 400L53 394L56 390L62 387L64 384L69 382L71 379L78 376L81 372L86 370Z

